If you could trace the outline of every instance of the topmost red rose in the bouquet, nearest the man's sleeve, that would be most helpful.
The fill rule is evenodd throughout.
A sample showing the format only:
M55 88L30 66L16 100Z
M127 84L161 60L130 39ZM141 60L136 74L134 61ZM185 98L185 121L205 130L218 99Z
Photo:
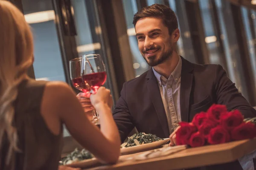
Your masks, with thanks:
M227 113L225 105L213 104L207 111L207 117L215 122L220 122L220 116Z

